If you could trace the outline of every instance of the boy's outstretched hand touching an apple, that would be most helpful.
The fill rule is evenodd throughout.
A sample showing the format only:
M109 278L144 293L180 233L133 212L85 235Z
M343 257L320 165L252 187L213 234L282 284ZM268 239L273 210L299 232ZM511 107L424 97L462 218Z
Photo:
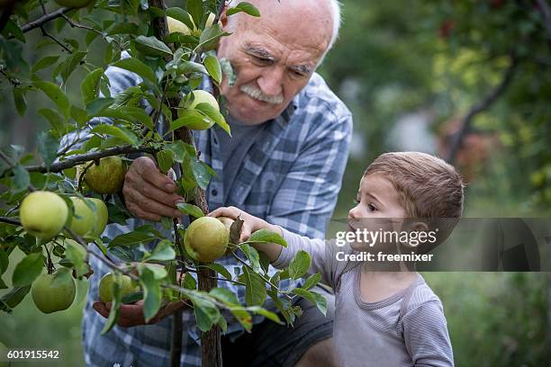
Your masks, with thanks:
M209 217L227 217L230 219L241 219L243 220L243 227L241 228L241 236L239 237L239 242L245 242L248 240L251 234L255 233L258 229L268 229L272 232L277 233L279 236L283 237L283 231L281 228L266 222L264 219L257 218L253 215L248 214L248 212L240 210L236 207L221 207L217 210L211 211ZM274 262L277 260L281 254L282 246L276 244L257 244L253 245L258 251L263 252Z

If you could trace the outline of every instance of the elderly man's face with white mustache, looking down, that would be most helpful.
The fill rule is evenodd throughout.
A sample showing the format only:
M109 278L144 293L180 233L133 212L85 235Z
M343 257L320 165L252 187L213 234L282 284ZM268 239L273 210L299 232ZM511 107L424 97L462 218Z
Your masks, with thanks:
M233 86L224 78L221 93L230 115L248 124L274 119L285 110L308 83L330 40L330 18L329 26L320 27L312 9L283 2L257 7L260 18L240 15L230 29L233 34L222 38L218 49L218 57L228 58L237 75Z

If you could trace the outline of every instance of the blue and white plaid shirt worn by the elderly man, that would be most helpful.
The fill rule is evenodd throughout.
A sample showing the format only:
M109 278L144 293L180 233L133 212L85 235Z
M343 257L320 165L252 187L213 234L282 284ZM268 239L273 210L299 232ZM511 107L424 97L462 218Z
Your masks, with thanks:
M113 95L139 83L137 76L116 67L108 69L106 74ZM243 158L231 187L223 186L223 153L216 133L194 131L201 158L217 173L207 188L210 210L233 205L295 233L323 237L337 201L351 132L351 113L317 74L281 116L267 122L266 129ZM226 202L224 197L228 198ZM145 221L131 219L127 226L112 224L104 236L113 238L141 224ZM230 273L237 265L233 257L224 257L218 262ZM113 327L101 336L105 319L92 309L92 303L98 299L99 279L109 269L94 259L91 265L95 275L90 279L83 319L86 365L167 366L172 318L155 325ZM284 288L296 285L289 281L281 284ZM244 303L243 287L231 282L220 282L219 286L237 293ZM265 307L272 309L267 302ZM255 322L262 319L254 318ZM238 322L230 317L227 320L226 335L242 332ZM184 330L181 365L200 366L200 331L195 326L193 311L184 311Z

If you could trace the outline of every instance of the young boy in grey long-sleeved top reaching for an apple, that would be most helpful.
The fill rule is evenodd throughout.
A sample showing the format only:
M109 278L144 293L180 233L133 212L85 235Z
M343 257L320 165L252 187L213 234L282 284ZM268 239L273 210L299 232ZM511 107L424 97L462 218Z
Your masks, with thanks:
M326 244L295 235L237 208L220 208L210 215L239 216L244 220L242 240L261 228L285 237L286 248L276 244L255 246L276 267L288 265L301 249L311 254L310 273L321 273L321 282L336 293L333 340L339 366L453 366L442 303L420 274L408 271L411 263L355 263L339 258L343 252L358 254L373 248L377 248L376 255L381 246L387 255L411 250L428 252L446 239L461 217L463 189L453 166L424 153L387 153L367 167L360 181L357 206L348 212L348 230L382 230L384 223L385 229L399 228L401 233L438 233L436 241L420 245L419 241L404 243L402 239L377 243L379 247L357 240L344 246L338 241ZM438 232L438 219L451 219L452 225Z

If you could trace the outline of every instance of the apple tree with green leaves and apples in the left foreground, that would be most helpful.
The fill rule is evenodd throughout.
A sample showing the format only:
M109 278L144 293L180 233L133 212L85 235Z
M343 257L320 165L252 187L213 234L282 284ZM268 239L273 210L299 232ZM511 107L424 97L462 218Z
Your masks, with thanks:
M102 280L101 294L95 295L113 301L103 333L116 324L123 303L143 300L149 321L183 302L203 331L203 365L211 366L221 364L219 338L226 318L250 331L252 314L284 322L262 307L267 297L288 324L301 314L293 305L295 297L311 300L322 312L326 304L310 291L319 276L309 278L303 288L279 288L283 279L304 276L308 254L299 253L288 269L269 274L266 257L250 245L285 246L283 238L261 230L240 243L239 219L222 223L205 217L204 190L215 173L199 159L193 131L219 125L230 134L217 97L222 70L230 83L235 76L230 63L214 52L218 40L229 35L218 21L221 1L184 3L0 3L0 83L13 94L17 112L38 113L49 123L36 137L37 151L16 145L0 149L0 288L9 288L0 298L0 309L11 312L29 292L42 312L68 309L75 297L74 278L95 276L89 265L94 258L112 271ZM259 16L246 2L228 15L239 12ZM37 32L42 40L29 57L23 46ZM66 37L76 32L74 38ZM44 55L45 45L58 52ZM102 53L100 61L92 58L93 49ZM139 83L112 94L108 67L134 73ZM76 70L86 73L74 87L68 79ZM214 95L197 90L206 77ZM27 103L31 94L40 95L43 103ZM167 131L159 132L160 121ZM108 223L125 224L131 218L121 189L127 165L138 156L152 157L163 173L173 175L177 192L185 198L178 209L189 217L188 229L182 220L163 218L169 237L153 224L104 236ZM8 280L2 276L14 252L23 258ZM240 266L230 273L214 262L221 255L233 256ZM246 304L219 282L245 287ZM181 312L173 316L172 365L179 365Z

